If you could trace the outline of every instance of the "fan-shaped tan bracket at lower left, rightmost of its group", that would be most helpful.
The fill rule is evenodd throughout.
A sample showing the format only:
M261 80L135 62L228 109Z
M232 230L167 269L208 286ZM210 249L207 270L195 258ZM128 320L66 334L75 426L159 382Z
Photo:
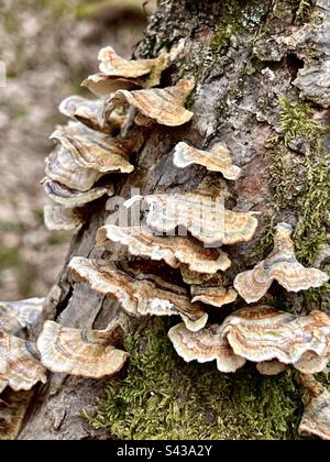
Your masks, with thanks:
M129 354L113 343L123 338L116 321L106 330L81 330L46 321L37 339L41 361L52 372L100 378L119 372Z

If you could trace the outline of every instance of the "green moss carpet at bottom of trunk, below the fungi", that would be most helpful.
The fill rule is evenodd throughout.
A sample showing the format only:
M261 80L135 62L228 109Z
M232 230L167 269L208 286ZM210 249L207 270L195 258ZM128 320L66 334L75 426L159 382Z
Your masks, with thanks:
M260 376L249 367L221 374L215 363L186 364L163 321L125 340L125 378L110 382L96 415L113 439L296 439L301 415L290 373Z

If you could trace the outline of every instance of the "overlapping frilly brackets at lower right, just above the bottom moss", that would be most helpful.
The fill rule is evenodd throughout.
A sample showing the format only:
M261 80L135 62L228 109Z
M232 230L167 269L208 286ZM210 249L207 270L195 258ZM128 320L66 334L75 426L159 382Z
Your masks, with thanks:
M235 372L249 360L265 375L275 375L288 364L315 374L330 359L330 318L317 310L298 317L260 305L234 311L221 324L198 332L177 324L168 337L185 361L217 360L221 372Z

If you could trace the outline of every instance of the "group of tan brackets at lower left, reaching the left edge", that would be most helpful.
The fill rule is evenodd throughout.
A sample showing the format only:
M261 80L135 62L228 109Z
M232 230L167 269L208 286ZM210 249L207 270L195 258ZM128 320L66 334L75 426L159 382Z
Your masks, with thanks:
M127 318L117 317L105 330L84 330L45 321L36 342L32 332L41 324L43 299L0 302L0 393L29 391L45 383L47 371L88 378L111 376L129 354L116 348L127 333Z

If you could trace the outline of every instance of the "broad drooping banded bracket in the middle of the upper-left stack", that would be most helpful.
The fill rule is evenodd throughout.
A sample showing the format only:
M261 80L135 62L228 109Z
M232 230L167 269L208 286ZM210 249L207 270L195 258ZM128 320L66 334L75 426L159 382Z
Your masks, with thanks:
M59 141L62 146L70 152L79 167L91 168L102 174L133 172L134 166L128 158L142 143L141 135L112 139L80 123L58 128L51 139Z

